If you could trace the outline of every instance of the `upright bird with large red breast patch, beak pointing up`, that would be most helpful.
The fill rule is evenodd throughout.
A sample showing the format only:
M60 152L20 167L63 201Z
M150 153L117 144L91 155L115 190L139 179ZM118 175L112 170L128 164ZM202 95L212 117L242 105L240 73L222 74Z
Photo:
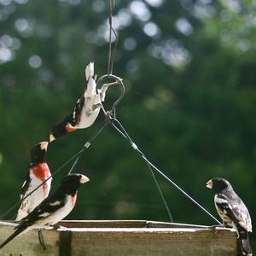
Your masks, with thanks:
M29 171L26 176L26 181L21 187L20 200L30 194L32 190L36 189L41 183L43 183L43 185L21 202L15 220L24 218L49 195L52 177L49 166L45 160L47 147L48 143L43 142L34 145L31 150Z

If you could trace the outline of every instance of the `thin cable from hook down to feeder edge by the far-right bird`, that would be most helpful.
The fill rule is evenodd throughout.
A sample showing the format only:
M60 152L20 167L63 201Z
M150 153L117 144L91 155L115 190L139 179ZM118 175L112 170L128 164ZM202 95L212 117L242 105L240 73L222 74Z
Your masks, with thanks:
M134 143L132 140L131 140L131 137L128 135L127 131L125 131L125 128L124 126L119 122L118 119L113 119L112 120L113 122L116 122L118 125L119 125L119 128L117 131L120 131L121 130L121 135L123 137L125 137L125 139L127 139L130 143L131 143L131 147L134 148L135 150L137 150L137 152L141 155L141 157L143 158L143 160L146 161L146 163L149 165L149 166L152 166L154 168L154 170L156 172L159 172L160 175L162 177L165 177L166 180L169 182L169 183L172 183L173 186L175 186L183 195L185 195L187 198L189 198L190 201L194 202L196 206L200 207L202 211L206 212L208 216L210 216L211 218L213 218L218 224L221 224L217 218L215 218L211 212L208 212L207 209L205 207L202 207L201 204L197 201L195 201L194 198L192 198L188 193L186 193L181 187L179 187L177 185L177 183L173 182L172 179L170 177L167 177L166 174L164 174L163 172L160 171L159 168L157 168L156 166L154 166L145 156L145 154L143 154L143 152L137 148L137 145L136 143ZM116 126L113 125L113 127L116 129ZM222 224L221 224L222 225Z

